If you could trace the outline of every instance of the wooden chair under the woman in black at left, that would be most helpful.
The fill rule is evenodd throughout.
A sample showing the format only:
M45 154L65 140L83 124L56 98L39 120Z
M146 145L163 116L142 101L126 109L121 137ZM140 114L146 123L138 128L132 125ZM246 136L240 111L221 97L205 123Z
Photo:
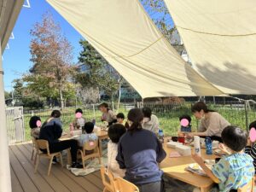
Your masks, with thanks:
M50 169L51 169L52 160L53 160L54 157L60 157L61 166L63 166L63 160L62 160L61 152L50 154L49 153L49 143L48 143L48 141L43 140L43 139L35 140L35 146L37 148L37 154L36 155L38 155L36 166L35 166L35 173L38 171L38 164L39 164L40 157L44 157L46 159L49 159L49 166L48 166L48 172L47 172L48 176L49 176L49 172L50 172ZM46 150L47 153L46 154L42 153L40 151L40 148Z

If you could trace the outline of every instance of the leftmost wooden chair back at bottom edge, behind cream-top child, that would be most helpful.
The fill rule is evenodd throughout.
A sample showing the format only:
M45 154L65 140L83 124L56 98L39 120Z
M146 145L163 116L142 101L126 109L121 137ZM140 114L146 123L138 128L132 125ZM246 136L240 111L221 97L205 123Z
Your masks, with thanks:
M101 167L102 183L103 185L112 192L115 191L113 173L106 169L104 166Z

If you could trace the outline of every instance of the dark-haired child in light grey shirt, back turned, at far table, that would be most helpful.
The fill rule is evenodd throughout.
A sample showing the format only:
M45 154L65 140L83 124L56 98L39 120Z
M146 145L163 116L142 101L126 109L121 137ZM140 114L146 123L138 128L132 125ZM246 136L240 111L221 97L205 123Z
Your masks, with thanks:
M78 138L80 148L83 148L84 143L89 141L96 141L98 139L96 133L92 132L93 129L94 125L92 122L87 122L84 124L82 127L82 135Z

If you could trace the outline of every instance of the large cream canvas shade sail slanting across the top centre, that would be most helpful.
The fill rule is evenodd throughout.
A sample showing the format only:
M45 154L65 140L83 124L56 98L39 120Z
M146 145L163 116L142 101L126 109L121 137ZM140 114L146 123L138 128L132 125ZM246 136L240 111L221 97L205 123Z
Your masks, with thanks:
M137 0L48 0L143 97L222 94L163 38Z

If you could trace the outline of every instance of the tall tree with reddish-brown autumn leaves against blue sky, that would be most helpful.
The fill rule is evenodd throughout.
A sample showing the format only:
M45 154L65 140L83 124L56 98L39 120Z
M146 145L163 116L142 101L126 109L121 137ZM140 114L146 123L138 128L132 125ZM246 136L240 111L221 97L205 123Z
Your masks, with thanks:
M30 34L33 66L23 79L27 88L38 96L58 97L62 109L67 99L64 92L69 90L74 73L73 47L49 13L43 16L41 23L36 23Z

